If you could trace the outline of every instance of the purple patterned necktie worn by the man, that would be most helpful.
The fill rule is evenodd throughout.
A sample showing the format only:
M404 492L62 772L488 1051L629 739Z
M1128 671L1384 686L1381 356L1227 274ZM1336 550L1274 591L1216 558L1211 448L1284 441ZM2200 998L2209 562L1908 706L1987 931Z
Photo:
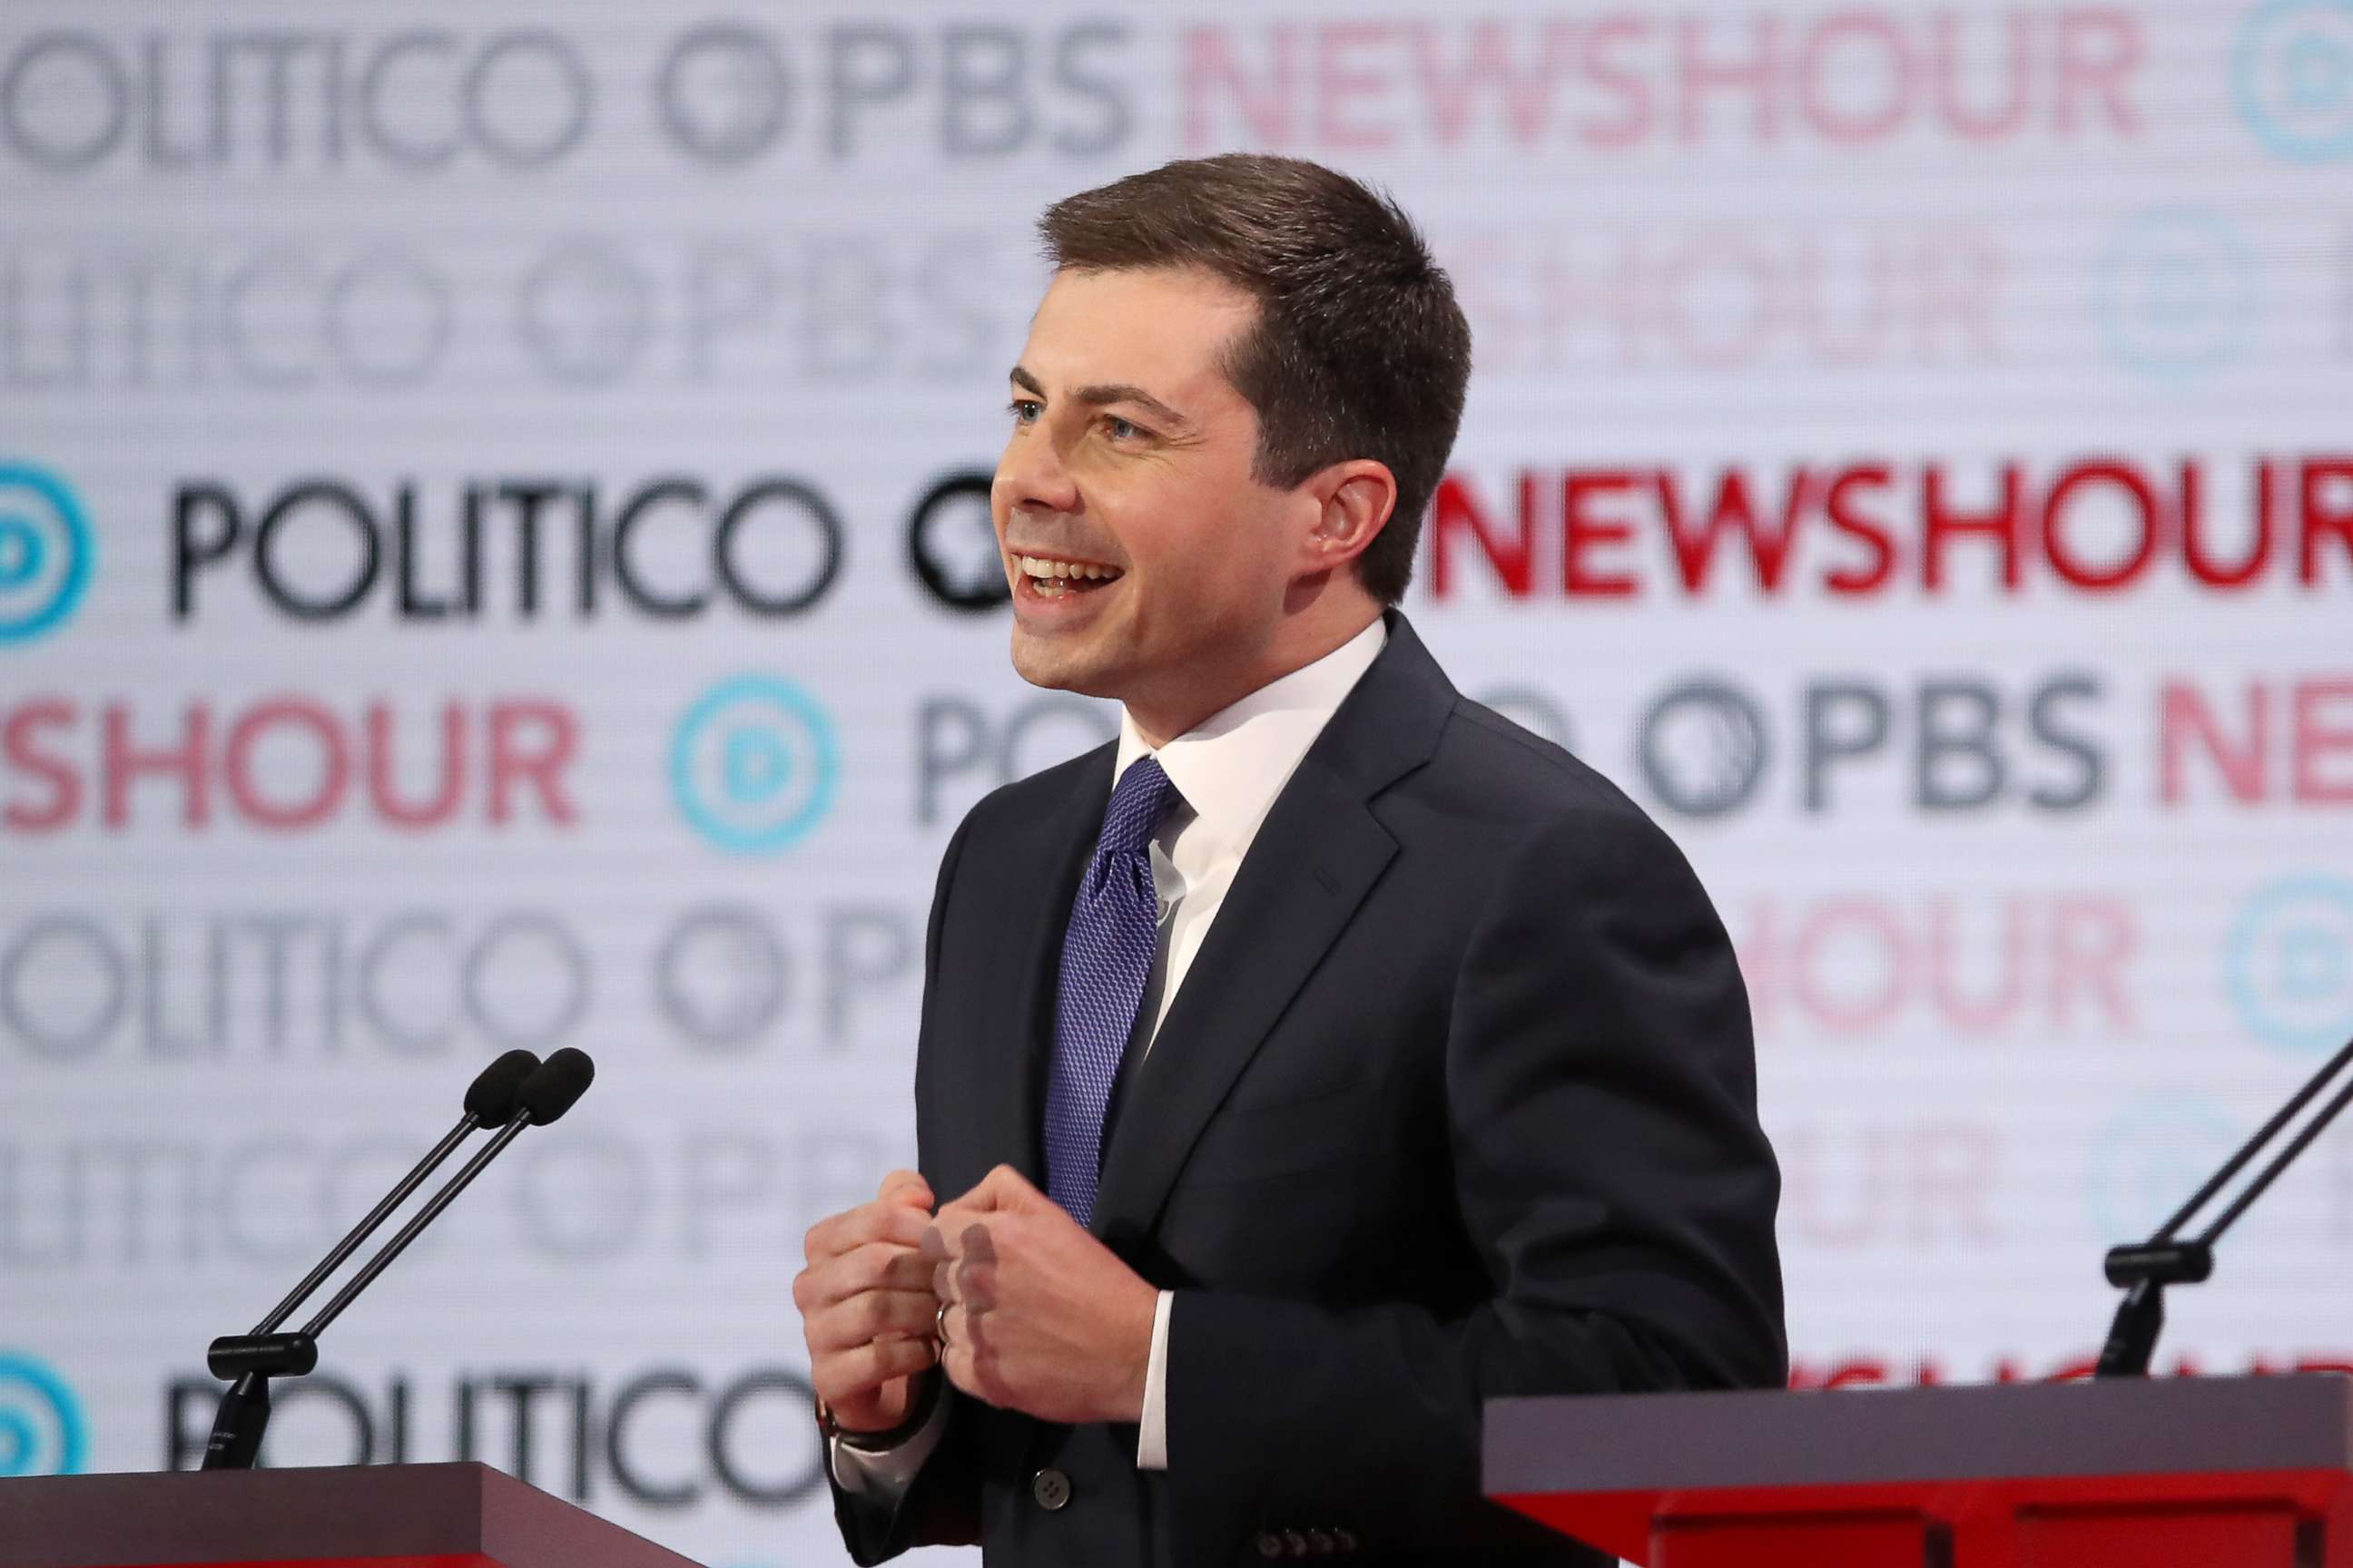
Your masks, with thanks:
M1087 875L1078 879L1071 929L1061 938L1054 994L1054 1079L1045 1093L1045 1190L1080 1225L1094 1222L1104 1157L1104 1107L1120 1077L1136 1004L1153 971L1160 896L1153 891L1153 832L1179 799L1158 757L1120 773L1104 809Z

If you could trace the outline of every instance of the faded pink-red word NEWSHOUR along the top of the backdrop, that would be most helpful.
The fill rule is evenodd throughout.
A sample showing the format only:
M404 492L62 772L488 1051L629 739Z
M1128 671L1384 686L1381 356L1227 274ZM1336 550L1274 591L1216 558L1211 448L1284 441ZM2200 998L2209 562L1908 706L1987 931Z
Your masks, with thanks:
M1962 143L2139 136L2148 40L2118 7L1845 7L1809 19L1626 7L1581 21L1195 26L1179 61L1193 150L1459 148L1494 132L1527 150L1774 146L1791 134L1871 148L1922 132Z

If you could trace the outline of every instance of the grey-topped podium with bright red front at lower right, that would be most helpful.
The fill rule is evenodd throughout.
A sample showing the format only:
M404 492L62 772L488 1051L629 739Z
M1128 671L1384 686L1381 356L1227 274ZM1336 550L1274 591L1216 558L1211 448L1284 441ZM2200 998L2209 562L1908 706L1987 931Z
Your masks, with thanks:
M1485 1490L1649 1568L2353 1568L2353 1380L1497 1399Z

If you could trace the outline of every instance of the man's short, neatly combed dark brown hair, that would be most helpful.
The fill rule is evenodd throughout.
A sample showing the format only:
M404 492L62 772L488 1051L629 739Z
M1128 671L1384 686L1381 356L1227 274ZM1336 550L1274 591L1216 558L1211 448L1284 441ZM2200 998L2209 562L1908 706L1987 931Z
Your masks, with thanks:
M1038 233L1056 268L1202 268L1257 299L1224 364L1259 414L1252 473L1292 487L1386 463L1398 508L1355 567L1384 604L1405 597L1464 416L1471 324L1393 197L1304 158L1226 153L1080 190Z

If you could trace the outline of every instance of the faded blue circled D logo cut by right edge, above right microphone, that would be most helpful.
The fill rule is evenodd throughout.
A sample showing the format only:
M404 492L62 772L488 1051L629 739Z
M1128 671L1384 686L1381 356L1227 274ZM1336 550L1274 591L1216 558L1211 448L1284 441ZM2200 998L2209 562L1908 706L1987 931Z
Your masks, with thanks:
M2224 980L2240 1023L2282 1051L2353 1039L2353 882L2289 877L2249 898Z

